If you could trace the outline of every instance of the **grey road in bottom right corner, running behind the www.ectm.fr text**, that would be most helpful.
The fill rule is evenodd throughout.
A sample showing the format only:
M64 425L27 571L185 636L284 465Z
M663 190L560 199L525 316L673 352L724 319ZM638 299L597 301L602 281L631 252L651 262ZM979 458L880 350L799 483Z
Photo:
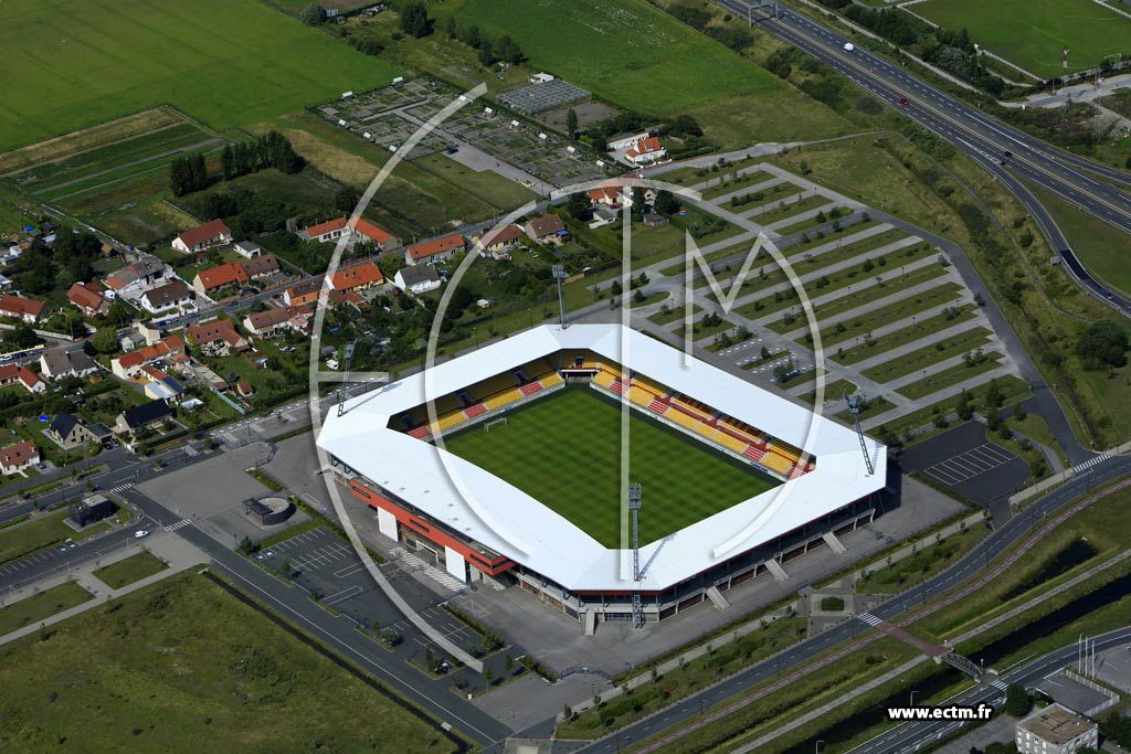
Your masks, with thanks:
M1125 626L1096 636L1095 647L1097 652L1102 652L1129 642L1131 642L1131 627ZM1078 651L1076 643L1063 647L1022 666L1011 668L1001 674L993 684L973 686L948 700L947 704L977 707L979 703L999 702L1004 699L1004 688L1009 684L1018 683L1031 687L1045 676L1076 661ZM962 725L966 723L949 720L904 722L853 748L852 754L901 754L925 749L929 744L952 735Z

